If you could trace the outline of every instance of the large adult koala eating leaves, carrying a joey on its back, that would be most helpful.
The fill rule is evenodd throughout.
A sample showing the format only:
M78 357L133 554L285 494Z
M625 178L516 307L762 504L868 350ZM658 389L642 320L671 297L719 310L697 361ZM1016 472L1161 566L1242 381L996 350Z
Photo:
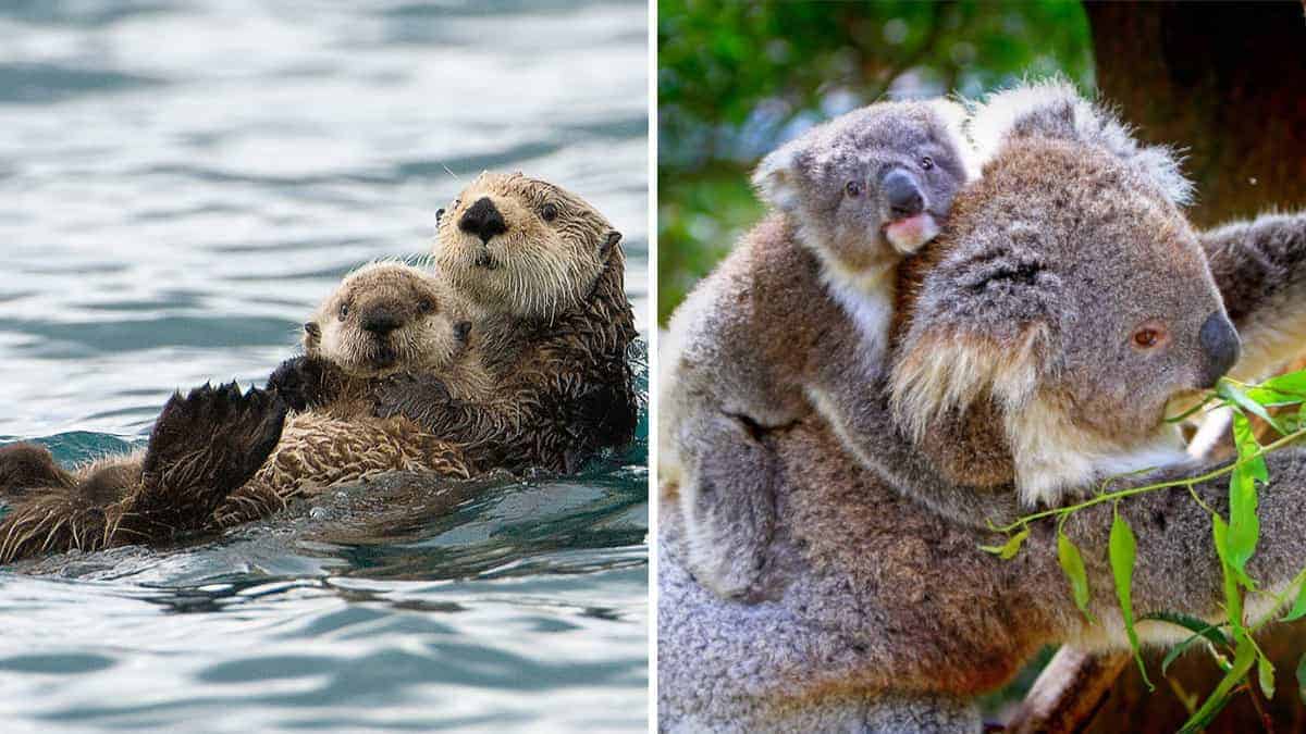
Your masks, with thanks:
M978 550L1000 542L987 522L1088 495L1121 471L1162 466L1123 488L1215 469L1182 458L1166 402L1211 387L1237 359L1228 299L1239 325L1294 299L1239 285L1239 263L1267 261L1246 248L1225 242L1208 261L1179 210L1187 187L1174 161L1074 91L1000 95L974 123L993 157L943 235L904 269L892 374L868 372L857 404L815 394L825 421L757 438L780 474L767 598L705 592L682 563L682 519L663 517L662 729L978 731L973 697L1041 646L1127 644L1109 504L1066 525L1096 624L1071 599L1054 522L1036 522L1013 560ZM1279 248L1271 255L1293 282L1306 274L1301 232L1260 243ZM833 303L812 308L846 323ZM846 332L832 327L821 347L846 349ZM1306 564L1306 451L1268 465L1247 568L1280 592ZM1228 516L1226 482L1192 491ZM1118 511L1138 534L1135 614L1221 618L1212 520L1188 491L1136 495ZM1266 598L1249 597L1252 619L1269 611ZM1175 631L1186 635L1139 626L1145 640Z

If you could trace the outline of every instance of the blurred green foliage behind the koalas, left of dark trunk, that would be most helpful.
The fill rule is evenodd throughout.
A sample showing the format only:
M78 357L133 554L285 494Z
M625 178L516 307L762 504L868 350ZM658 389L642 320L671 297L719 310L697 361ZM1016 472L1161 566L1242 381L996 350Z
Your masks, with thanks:
M658 3L658 321L761 215L757 158L884 98L1093 86L1079 3Z

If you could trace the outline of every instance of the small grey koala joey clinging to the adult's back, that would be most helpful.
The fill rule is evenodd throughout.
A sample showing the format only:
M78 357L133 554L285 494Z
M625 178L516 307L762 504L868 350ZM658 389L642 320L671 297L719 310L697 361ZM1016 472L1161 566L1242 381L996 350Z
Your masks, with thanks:
M934 236L930 227L968 178L963 118L947 101L879 103L768 155L754 180L774 213L673 317L662 345L660 473L678 488L691 567L714 592L759 592L754 580L774 522L759 435L810 410L806 389L838 389L823 381L824 363L844 355L808 345L844 328L867 368L883 366L895 268L919 238ZM876 185L889 172L909 176L923 196L917 239L887 229L900 221ZM819 316L832 304L842 312ZM730 554L720 552L722 533L737 542Z

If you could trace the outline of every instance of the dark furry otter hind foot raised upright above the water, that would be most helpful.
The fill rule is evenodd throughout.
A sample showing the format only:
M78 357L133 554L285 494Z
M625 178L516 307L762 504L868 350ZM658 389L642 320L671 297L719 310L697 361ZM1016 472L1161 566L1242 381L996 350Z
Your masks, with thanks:
M263 466L281 439L286 411L276 392L251 388L240 394L235 383L175 393L145 451L146 490L171 505L212 511Z

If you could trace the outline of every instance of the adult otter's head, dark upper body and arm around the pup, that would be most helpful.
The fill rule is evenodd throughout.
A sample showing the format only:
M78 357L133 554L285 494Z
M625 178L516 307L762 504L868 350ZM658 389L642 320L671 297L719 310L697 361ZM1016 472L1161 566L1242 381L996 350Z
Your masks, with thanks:
M495 391L466 400L436 374L405 372L376 385L376 414L511 470L571 473L628 444L639 397L620 232L579 196L521 174L481 174L441 213L436 266L478 315Z

